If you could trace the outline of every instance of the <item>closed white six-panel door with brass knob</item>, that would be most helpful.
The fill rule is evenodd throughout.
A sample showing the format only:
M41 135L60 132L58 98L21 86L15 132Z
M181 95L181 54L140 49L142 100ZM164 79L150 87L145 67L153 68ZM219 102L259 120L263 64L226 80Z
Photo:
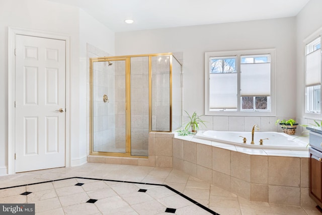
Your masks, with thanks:
M65 166L65 41L16 36L16 172Z

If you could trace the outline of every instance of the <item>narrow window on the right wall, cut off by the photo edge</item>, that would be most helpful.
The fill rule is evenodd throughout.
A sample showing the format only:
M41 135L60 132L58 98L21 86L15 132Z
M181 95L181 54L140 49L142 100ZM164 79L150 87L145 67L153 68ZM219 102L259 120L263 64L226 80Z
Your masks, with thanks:
M321 36L305 45L305 113L321 113Z

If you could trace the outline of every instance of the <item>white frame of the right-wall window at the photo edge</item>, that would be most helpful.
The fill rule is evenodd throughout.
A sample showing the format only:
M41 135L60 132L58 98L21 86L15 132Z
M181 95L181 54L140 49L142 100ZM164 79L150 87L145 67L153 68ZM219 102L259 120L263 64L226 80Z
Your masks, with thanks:
M307 37L304 41L303 41L303 118L308 118L308 119L320 119L322 117L322 103L320 102L320 113L309 113L306 112L306 53L307 53L307 49L306 49L306 45L308 45L309 43L313 42L314 40L316 40L318 37L320 37L320 41L322 42L322 28L319 28L317 31L315 31L313 34L311 34L309 37ZM314 46L314 44L312 44L312 46L310 47L310 49ZM322 51L322 47L320 49ZM313 50L310 50L310 52L312 52ZM322 54L321 54L321 90L322 90ZM322 101L322 92L320 92L320 101Z

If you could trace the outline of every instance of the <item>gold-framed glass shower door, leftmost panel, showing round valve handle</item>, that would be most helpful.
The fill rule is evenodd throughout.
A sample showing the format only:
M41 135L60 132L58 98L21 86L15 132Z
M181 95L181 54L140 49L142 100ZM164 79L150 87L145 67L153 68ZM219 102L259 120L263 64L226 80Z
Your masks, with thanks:
M125 59L93 60L92 153L126 153Z

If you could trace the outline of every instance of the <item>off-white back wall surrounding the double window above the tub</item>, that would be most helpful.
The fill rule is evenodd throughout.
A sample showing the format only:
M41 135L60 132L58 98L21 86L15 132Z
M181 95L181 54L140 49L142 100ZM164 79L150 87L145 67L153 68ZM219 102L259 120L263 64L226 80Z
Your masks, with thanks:
M295 117L296 18L258 20L191 27L119 32L117 55L183 52L184 109L204 113L204 54L207 51L276 48L277 109L279 117ZM285 81L287 80L287 81ZM194 87L190 87L194 86ZM197 86L197 87L195 87ZM285 104L291 104L289 105ZM274 117L206 117L209 129L250 130L253 123L263 130L276 130ZM231 121L232 123L229 123ZM235 123L233 123L235 122ZM234 127L237 124L238 127Z

